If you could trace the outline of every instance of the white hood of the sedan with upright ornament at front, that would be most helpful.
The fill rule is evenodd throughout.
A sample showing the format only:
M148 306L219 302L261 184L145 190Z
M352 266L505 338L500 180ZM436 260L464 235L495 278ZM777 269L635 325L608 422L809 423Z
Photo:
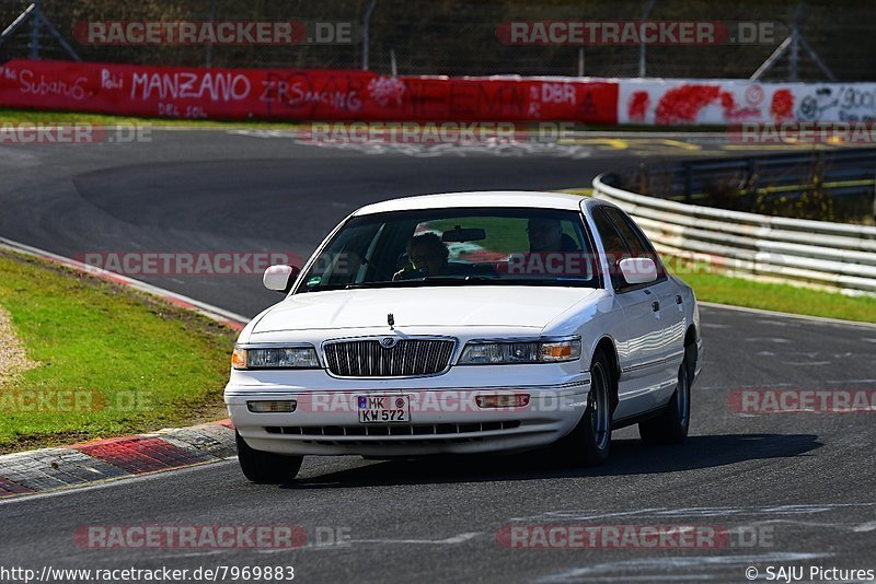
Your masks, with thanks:
M543 328L596 294L589 288L443 287L338 290L295 294L267 311L253 334L395 326Z

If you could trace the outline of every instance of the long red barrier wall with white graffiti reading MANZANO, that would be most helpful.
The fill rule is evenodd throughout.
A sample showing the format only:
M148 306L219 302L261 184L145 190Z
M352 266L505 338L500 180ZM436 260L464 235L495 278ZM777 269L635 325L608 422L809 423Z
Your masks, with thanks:
M12 60L0 67L0 106L181 119L613 125L618 84L570 78L392 78L355 70Z

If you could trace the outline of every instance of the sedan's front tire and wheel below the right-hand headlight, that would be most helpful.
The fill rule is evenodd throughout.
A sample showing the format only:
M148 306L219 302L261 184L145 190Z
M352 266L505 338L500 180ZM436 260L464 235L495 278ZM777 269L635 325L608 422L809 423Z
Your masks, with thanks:
M601 353L590 364L590 392L578 425L558 443L562 458L575 466L604 463L611 448L612 376L608 360Z

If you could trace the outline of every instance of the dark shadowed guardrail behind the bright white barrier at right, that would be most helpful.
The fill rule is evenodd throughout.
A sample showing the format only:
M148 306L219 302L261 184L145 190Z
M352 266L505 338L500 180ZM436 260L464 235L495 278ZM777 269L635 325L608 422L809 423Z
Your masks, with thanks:
M818 188L834 201L860 199L866 205L876 190L876 149L645 163L625 186L642 194L696 202L707 200L716 186L729 183L751 194L792 200Z

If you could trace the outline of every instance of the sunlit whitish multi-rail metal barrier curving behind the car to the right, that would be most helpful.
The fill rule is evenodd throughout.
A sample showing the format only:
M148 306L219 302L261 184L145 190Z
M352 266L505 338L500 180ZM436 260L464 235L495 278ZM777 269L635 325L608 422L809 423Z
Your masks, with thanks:
M851 293L876 294L876 227L685 205L593 179L593 196L626 210L660 254Z

